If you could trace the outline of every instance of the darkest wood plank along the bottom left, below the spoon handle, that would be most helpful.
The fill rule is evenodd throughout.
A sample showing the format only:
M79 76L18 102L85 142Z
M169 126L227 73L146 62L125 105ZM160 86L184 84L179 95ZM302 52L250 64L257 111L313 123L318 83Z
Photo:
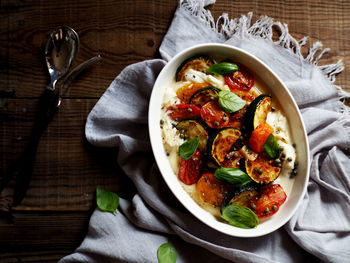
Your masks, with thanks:
M22 211L0 221L0 262L57 262L79 246L89 212ZM4 217L2 217L4 218Z

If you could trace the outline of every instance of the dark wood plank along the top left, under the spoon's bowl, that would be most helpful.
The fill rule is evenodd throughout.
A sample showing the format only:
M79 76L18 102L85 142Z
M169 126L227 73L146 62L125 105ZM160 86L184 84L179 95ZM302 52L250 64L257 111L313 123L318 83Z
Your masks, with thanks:
M0 31L0 52L7 53L0 86L14 89L19 98L39 96L47 84L42 51L58 25L79 34L76 64L97 54L104 58L70 96L99 97L126 65L154 57L176 7L175 1L15 2L0 13L0 24L8 23Z

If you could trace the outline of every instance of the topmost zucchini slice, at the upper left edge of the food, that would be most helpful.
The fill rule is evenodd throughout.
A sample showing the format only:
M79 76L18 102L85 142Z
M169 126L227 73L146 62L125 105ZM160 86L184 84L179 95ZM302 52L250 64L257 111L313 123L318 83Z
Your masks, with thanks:
M177 68L176 81L185 81L185 73L188 69L206 72L206 70L213 64L213 60L207 56L199 55L190 57L182 62Z

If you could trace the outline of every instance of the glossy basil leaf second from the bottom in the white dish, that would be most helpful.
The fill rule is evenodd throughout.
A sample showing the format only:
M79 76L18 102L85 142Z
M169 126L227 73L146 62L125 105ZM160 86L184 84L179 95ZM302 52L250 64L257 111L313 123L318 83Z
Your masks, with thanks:
M242 186L251 181L250 177L240 169L234 167L221 167L215 170L214 176L234 186Z

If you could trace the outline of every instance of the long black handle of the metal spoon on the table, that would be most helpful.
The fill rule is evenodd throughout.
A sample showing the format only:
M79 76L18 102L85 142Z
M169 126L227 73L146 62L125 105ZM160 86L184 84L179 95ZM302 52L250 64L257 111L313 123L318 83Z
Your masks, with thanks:
M12 172L12 176L16 176L16 186L13 198L14 206L21 203L28 189L40 137L58 111L57 103L58 93L45 89L39 99L38 110L28 144Z

